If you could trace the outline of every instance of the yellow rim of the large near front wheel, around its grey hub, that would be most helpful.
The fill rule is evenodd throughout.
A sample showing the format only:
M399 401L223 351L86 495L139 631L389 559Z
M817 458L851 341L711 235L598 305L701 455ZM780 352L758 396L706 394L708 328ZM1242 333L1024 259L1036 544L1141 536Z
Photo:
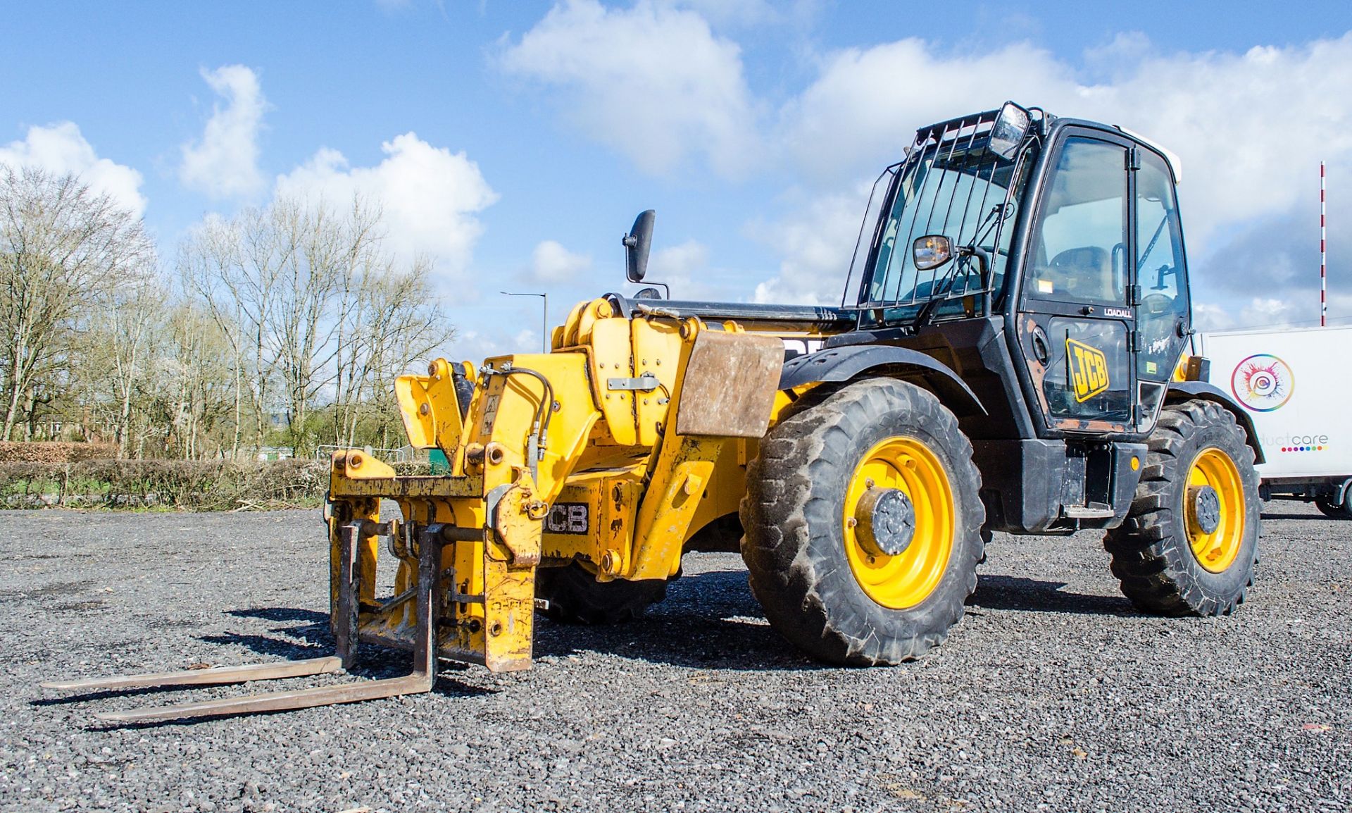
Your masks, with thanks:
M896 556L871 548L854 529L860 499L869 488L896 488L911 501L915 530ZM854 467L845 494L845 556L864 593L894 610L921 603L938 587L956 529L953 487L944 464L913 437L890 437L869 449Z

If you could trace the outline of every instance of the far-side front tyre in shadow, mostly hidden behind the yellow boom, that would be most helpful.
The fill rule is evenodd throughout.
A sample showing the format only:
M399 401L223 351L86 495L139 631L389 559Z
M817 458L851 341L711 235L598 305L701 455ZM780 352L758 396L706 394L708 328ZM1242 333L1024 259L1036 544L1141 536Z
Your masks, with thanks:
M598 582L576 561L535 571L535 597L549 602L545 615L565 624L619 624L667 598L667 582Z

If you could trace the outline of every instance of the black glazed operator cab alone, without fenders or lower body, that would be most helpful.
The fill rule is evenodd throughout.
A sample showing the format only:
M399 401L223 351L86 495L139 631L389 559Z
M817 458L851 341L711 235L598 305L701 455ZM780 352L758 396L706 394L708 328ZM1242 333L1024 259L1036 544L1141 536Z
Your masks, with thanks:
M872 238L853 264L859 327L923 346L910 337L940 327L952 344L957 326L944 323L994 315L1013 368L967 365L1018 391L982 399L992 419L1030 411L1006 426L1140 440L1191 331L1175 183L1167 154L1140 137L1013 103L923 127L869 200Z

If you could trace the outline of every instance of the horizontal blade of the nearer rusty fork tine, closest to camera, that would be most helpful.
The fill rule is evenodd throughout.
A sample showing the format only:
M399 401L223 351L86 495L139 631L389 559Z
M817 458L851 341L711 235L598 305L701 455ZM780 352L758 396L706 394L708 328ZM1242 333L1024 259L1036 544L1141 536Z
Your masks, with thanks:
M250 694L247 697L181 703L177 706L161 706L158 709L103 712L95 714L95 717L107 722L153 722L157 720L178 720L184 717L223 717L227 714L288 712L292 709L310 709L312 706L356 703L385 697L397 697L400 694L419 694L423 691L431 691L433 680L434 678L430 675L414 672L412 675L385 680L362 680L360 683L319 686L315 689L301 689L299 691Z

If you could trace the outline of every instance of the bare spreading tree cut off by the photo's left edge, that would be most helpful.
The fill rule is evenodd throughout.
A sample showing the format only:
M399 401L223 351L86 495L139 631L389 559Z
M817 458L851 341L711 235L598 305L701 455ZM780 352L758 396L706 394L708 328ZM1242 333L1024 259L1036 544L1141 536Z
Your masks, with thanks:
M24 411L31 421L37 377L69 350L89 303L153 257L142 222L77 177L0 168L0 440Z

